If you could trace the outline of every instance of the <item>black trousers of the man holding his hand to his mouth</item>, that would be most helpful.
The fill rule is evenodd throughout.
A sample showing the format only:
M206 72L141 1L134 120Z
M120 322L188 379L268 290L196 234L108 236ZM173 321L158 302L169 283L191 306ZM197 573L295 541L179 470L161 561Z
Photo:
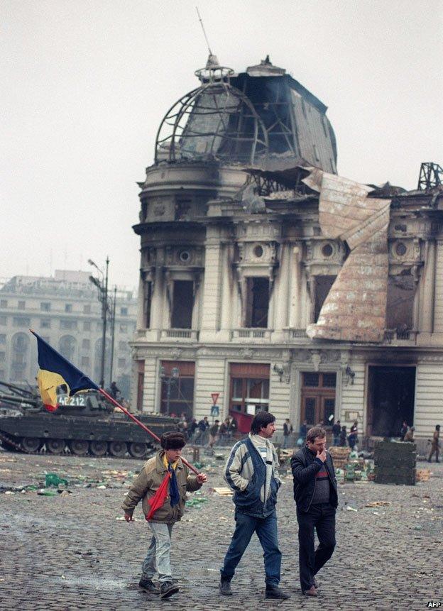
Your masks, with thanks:
M311 505L307 513L297 510L302 592L309 590L314 585L314 576L334 552L335 511L335 508L329 503ZM314 529L319 539L317 549L315 549Z

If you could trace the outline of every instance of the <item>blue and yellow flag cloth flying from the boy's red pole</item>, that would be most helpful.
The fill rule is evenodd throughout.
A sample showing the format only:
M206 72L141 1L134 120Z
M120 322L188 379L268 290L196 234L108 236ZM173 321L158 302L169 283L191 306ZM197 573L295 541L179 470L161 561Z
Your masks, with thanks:
M84 373L72 365L69 360L54 350L44 339L30 329L37 338L38 366L37 374L38 390L45 408L54 412L58 408L57 387L64 384L70 397L80 390L94 388L99 390L97 384L89 380Z

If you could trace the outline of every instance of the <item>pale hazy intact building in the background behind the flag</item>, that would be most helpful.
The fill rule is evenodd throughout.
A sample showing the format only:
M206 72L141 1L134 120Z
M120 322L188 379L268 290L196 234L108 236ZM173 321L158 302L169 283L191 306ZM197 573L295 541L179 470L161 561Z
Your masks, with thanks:
M109 294L111 296L111 293ZM136 299L117 292L113 379L122 395L131 389L129 339L136 327ZM33 385L38 371L33 329L92 380L99 381L102 306L88 272L55 270L53 277L14 276L0 288L0 380ZM105 385L110 383L111 329L106 334Z

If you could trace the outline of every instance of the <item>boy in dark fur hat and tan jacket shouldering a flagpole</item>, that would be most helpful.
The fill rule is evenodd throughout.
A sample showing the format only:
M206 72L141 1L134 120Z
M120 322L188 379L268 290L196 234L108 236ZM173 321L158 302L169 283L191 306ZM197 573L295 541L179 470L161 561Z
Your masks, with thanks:
M173 525L180 520L185 509L186 492L194 492L207 481L204 473L189 475L180 455L185 447L185 436L172 431L160 438L161 448L150 458L128 490L122 505L126 522L133 520L137 503L143 499L143 512L153 534L148 554L143 561L141 588L157 592L153 583L155 571L160 583L160 598L169 598L178 592L172 581L170 544Z

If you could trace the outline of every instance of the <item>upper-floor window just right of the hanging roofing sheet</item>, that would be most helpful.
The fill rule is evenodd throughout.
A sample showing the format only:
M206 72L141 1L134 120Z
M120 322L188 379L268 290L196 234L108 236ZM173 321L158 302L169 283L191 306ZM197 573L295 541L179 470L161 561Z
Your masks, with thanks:
M415 280L410 270L389 276L386 303L386 329L408 331L414 328Z

